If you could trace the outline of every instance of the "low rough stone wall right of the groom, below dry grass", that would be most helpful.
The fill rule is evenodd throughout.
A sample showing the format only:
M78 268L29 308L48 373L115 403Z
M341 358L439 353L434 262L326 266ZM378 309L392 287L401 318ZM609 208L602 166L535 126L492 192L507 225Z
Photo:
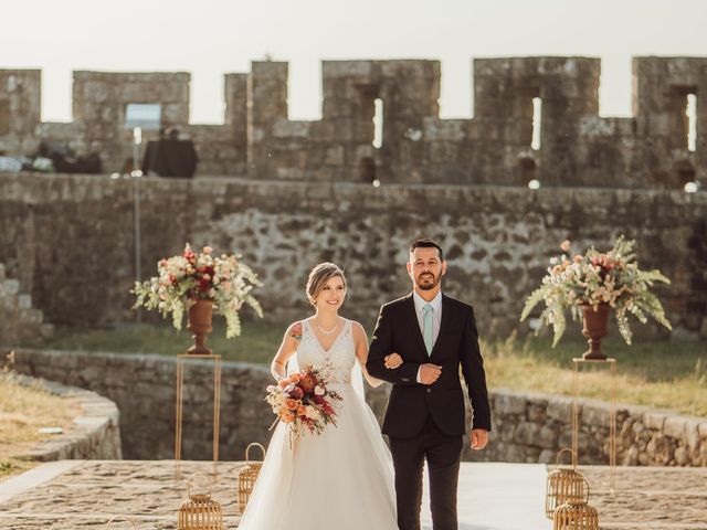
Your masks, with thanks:
M368 392L380 422L389 392L389 385ZM489 402L489 444L483 452L465 446L462 459L550 464L561 448L572 446L571 398L492 389ZM608 465L609 403L580 398L578 407L580 464ZM468 404L466 414L467 420L473 414ZM616 465L707 466L707 417L616 404Z

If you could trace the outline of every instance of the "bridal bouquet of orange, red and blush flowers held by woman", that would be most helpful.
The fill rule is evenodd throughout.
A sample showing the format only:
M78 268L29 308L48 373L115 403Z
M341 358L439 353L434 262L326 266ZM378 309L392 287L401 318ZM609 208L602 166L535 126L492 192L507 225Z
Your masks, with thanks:
M321 434L328 424L336 425L334 402L341 401L341 396L327 389L318 370L306 368L267 386L265 401L277 415L275 423L289 426L292 441L293 436L299 438L305 430Z

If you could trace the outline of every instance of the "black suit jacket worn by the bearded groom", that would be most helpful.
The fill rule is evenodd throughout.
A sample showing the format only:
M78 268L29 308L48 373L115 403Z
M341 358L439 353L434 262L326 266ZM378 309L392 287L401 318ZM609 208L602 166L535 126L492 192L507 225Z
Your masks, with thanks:
M397 352L403 363L387 369L384 358ZM431 362L442 374L431 385L416 382L418 369ZM383 421L383 434L412 437L422 432L428 414L451 436L465 433L465 405L460 367L474 410L473 428L490 431L490 410L484 361L472 306L442 295L442 321L428 356L418 324L412 293L380 308L366 368L374 378L393 384Z

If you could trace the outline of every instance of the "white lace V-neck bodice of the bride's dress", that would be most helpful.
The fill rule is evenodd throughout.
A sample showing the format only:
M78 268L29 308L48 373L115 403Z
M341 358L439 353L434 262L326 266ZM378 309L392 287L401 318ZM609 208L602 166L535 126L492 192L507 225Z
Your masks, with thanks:
M297 362L300 368L314 367L330 383L350 383L351 369L356 363L356 347L354 346L351 320L345 320L344 328L325 350L317 339L308 320L302 322L302 341L297 348Z

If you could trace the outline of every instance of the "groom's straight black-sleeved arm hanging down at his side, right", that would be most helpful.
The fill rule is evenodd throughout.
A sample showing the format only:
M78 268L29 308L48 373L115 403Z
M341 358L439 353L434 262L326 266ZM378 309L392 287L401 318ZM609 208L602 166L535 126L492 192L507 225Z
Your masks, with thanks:
M468 315L464 327L464 341L461 352L462 374L466 381L468 396L474 410L472 428L490 431L490 407L488 405L488 391L486 390L486 372L484 359L478 348L478 331L474 309L468 306Z

